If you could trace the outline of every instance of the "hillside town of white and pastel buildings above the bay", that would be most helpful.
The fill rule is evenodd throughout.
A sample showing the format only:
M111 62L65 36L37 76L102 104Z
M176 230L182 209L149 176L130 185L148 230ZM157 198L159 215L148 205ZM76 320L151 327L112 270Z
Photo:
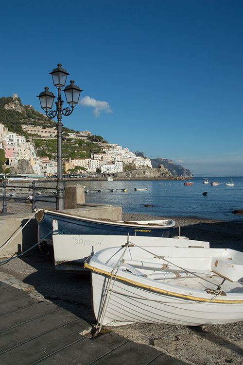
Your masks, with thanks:
M27 133L39 134L42 137L55 137L57 131L55 128L42 128L29 125L22 125ZM89 131L78 131L69 133L72 138L88 138L92 135ZM122 172L123 166L130 165L139 168L152 168L151 160L136 156L127 147L122 149L118 144L106 145L102 148L102 152L93 153L91 157L74 158L69 157L69 161L64 161L63 165L66 172L73 170L75 166L86 169L87 172L96 172L98 169L102 173ZM37 157L33 144L26 142L26 138L17 133L8 132L8 129L0 123L0 148L5 151L5 158L8 159L9 166L17 166L18 160L27 160L38 175L45 173L46 175L57 173L57 162L49 160L48 157ZM78 171L78 169L76 169Z

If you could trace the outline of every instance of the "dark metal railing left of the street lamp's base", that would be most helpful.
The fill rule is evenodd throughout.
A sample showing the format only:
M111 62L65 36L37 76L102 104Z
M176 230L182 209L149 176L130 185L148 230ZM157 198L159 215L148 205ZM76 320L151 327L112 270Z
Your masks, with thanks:
M35 181L32 182L31 185L29 186L21 186L21 189L28 189L28 190L32 190L32 198L29 199L29 197L27 198L16 198L14 196L7 196L6 194L6 189L7 188L19 188L19 185L7 185L6 181L4 180L3 183L0 184L0 187L3 188L3 195L1 197L2 199L2 213L7 213L7 199L14 199L14 200L30 200L30 202L32 203L32 212L35 212L35 208L36 208L36 201L45 201L48 203L54 203L52 200L47 200L47 199L40 199L37 198L36 195L38 195L38 193L36 192L36 190L52 190L53 191L53 187L44 187L44 186L36 186L35 185Z

